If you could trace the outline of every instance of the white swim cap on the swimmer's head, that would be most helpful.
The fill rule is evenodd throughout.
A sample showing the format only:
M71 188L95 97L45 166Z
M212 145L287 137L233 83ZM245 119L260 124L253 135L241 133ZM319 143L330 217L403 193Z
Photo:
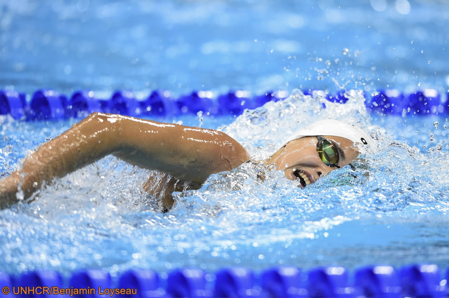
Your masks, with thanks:
M306 127L297 130L294 134L286 139L284 145L282 146L285 146L288 142L293 141L297 138L316 135L331 135L342 137L347 138L354 143L370 145L371 147L374 146L374 140L368 134L366 134L365 131L361 130L361 128L353 124L348 124L335 119L324 119L316 121L311 125L307 125ZM359 151L361 151L361 153L365 153L366 149L364 148L364 146L362 146L359 147Z

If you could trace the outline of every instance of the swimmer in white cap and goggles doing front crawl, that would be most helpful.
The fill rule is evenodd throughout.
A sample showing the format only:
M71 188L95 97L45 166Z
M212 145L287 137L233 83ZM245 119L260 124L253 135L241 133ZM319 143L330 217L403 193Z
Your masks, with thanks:
M274 164L304 188L351 163L365 150L363 145L373 142L354 125L326 119L298 130L260 163ZM163 173L163 179L149 177L143 190L157 193L164 211L174 203L173 191L198 189L211 174L230 171L251 160L240 143L217 130L95 112L44 143L26 156L21 169L0 180L0 208L17 203L19 190L27 199L53 178L110 154Z

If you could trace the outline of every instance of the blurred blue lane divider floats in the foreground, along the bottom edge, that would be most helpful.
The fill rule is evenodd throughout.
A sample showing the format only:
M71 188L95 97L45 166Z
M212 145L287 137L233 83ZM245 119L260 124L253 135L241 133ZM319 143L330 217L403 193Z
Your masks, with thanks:
M442 279L440 269L432 264L399 270L367 266L353 274L343 267L313 268L307 274L289 266L262 272L223 268L214 274L184 268L164 276L162 281L148 269L131 269L115 278L88 269L66 280L49 270L19 276L0 272L0 297L449 297L449 268Z

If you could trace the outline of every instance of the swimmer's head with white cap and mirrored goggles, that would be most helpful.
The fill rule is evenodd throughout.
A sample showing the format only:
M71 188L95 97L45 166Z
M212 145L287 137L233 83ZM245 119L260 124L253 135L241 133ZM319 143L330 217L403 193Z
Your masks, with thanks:
M283 170L301 187L311 184L330 171L341 168L366 152L374 140L355 125L325 119L296 131L269 161Z

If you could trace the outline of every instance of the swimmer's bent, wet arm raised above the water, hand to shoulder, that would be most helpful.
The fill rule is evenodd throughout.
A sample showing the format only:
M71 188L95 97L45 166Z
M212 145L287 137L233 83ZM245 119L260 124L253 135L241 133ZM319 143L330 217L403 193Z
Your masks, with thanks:
M242 145L215 130L92 113L44 143L26 157L21 170L0 181L0 207L16 202L19 184L28 198L44 181L109 154L197 185L250 159Z

